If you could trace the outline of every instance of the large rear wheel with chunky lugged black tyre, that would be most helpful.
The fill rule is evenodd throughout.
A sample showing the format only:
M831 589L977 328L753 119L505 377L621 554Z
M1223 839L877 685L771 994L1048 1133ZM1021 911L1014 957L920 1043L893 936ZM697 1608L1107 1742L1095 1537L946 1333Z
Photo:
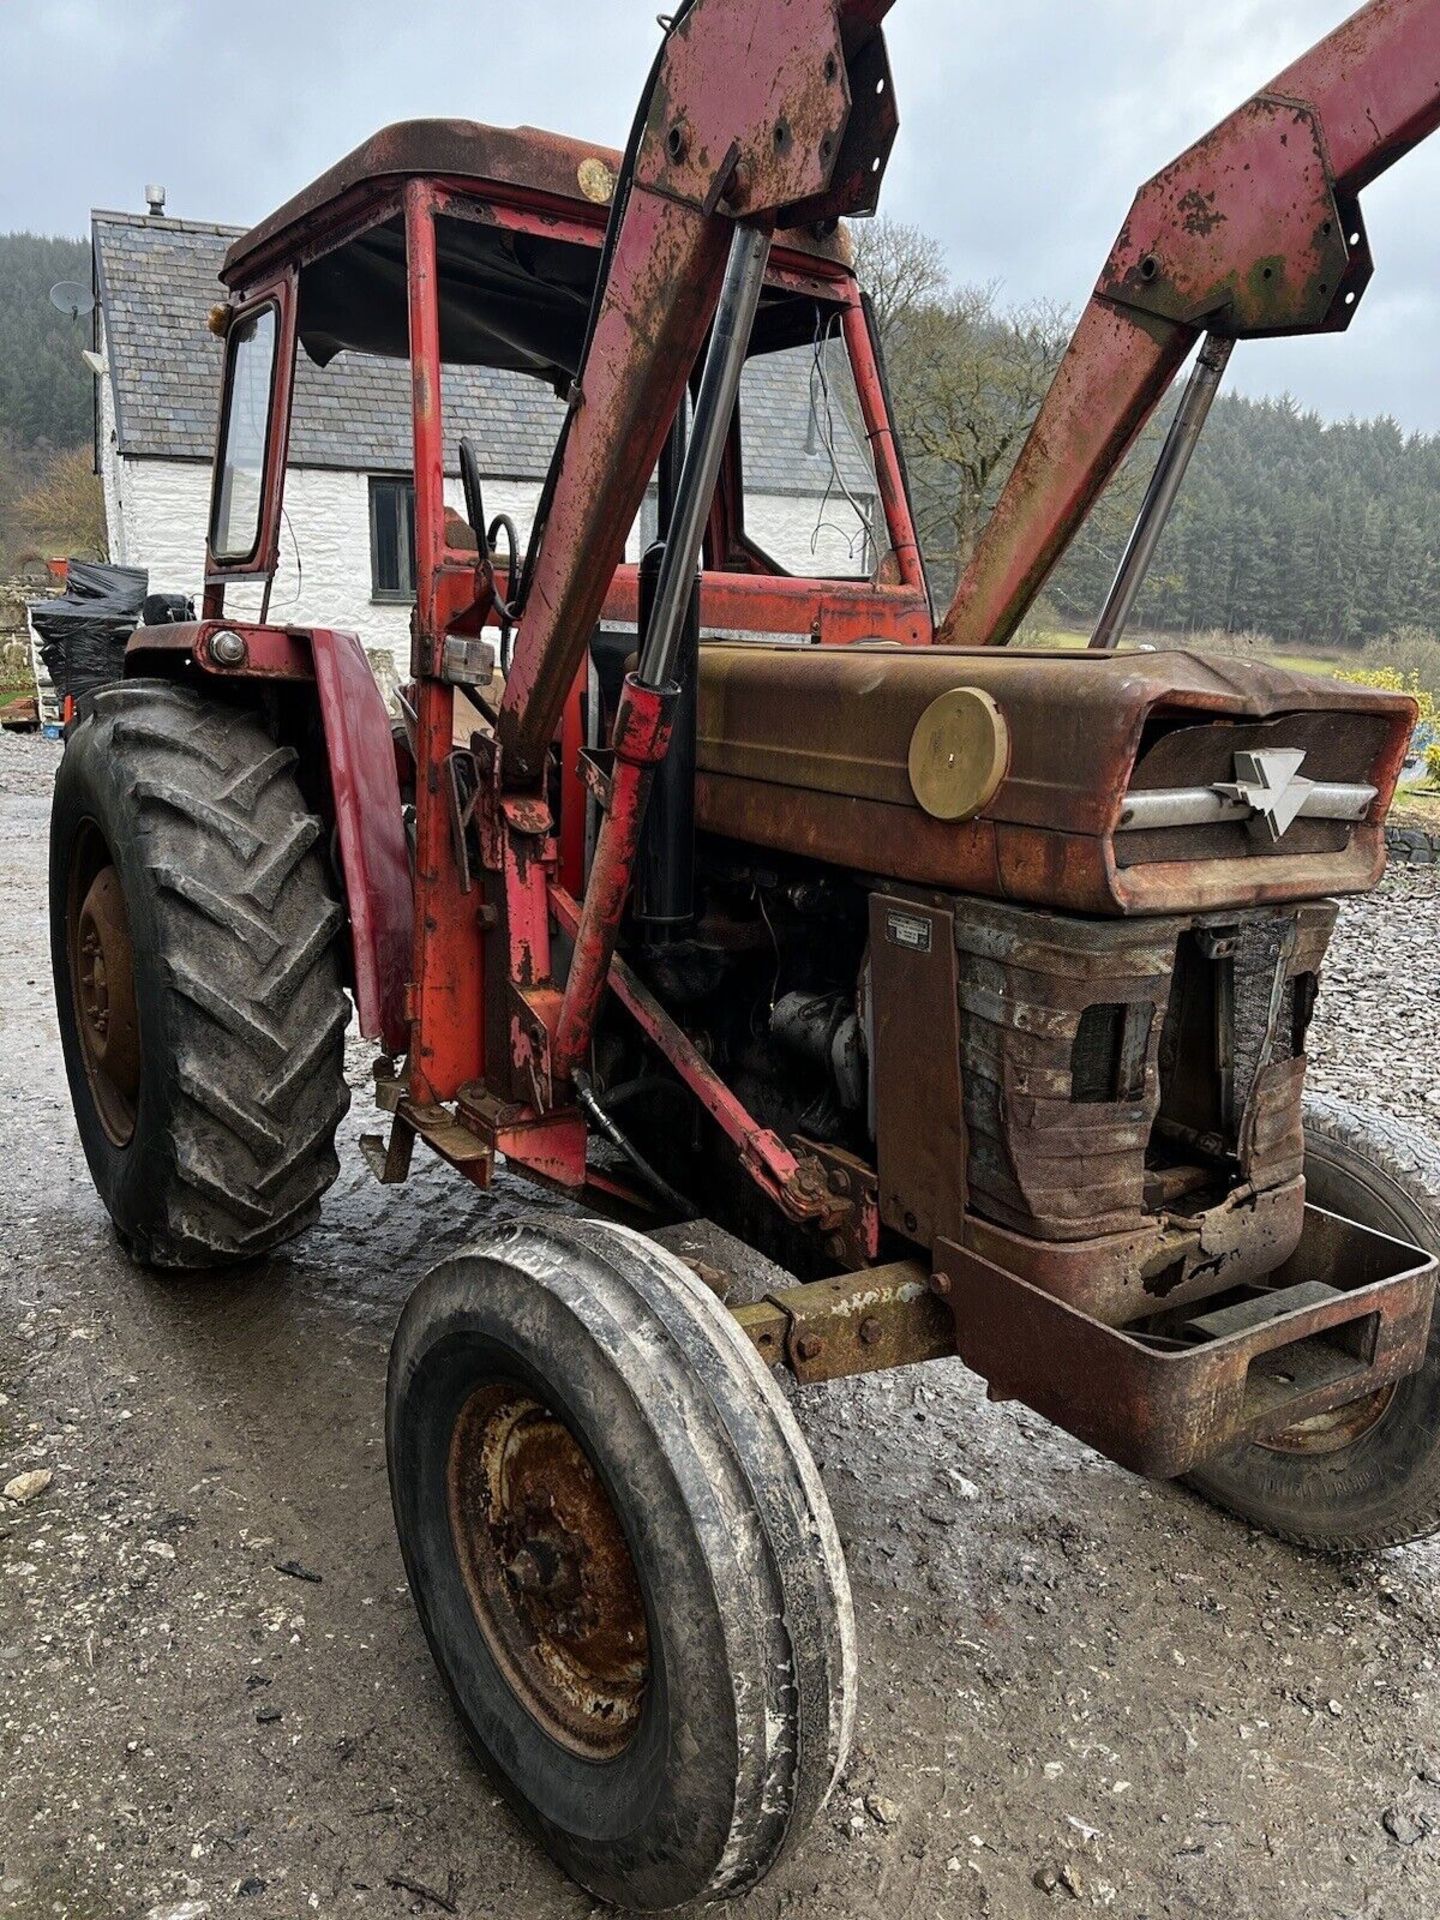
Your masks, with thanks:
M255 716L140 680L96 695L56 776L65 1073L100 1198L154 1267L265 1254L340 1169L344 914L294 764Z

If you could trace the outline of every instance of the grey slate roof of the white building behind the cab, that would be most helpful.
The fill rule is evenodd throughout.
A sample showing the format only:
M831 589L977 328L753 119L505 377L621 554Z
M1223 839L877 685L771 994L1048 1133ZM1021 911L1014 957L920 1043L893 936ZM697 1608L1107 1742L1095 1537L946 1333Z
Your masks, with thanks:
M92 213L96 294L115 394L119 451L205 461L215 449L221 342L207 326L223 300L221 261L242 227ZM808 353L751 361L745 372L745 482L751 492L818 495L829 455L810 419ZM751 394L758 405L751 403ZM290 428L294 467L411 470L409 367L342 353L296 369ZM543 478L563 405L540 380L486 367L445 369L445 438L470 434L493 478ZM835 447L847 486L874 493L866 461L839 407Z

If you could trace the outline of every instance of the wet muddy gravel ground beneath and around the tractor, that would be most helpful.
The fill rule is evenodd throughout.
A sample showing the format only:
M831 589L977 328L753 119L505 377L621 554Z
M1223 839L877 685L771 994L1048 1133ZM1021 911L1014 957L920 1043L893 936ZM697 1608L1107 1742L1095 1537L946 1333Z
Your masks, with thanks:
M540 1202L438 1165L374 1187L355 1048L323 1225L240 1277L136 1273L50 1002L54 753L0 735L0 1484L54 1475L0 1511L0 1912L588 1914L463 1749L384 1475L409 1286ZM1325 1085L1432 1131L1438 941L1434 881L1350 908L1317 1048ZM843 1791L737 1920L1440 1912L1438 1549L1309 1559L958 1363L801 1417L864 1695Z

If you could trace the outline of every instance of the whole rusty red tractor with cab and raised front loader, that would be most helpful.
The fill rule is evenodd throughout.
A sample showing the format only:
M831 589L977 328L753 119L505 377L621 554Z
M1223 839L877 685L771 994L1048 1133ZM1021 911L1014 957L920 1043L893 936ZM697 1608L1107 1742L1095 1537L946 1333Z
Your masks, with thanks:
M482 1215L417 1288L390 1475L476 1751L632 1907L753 1885L845 1761L849 1588L776 1367L958 1354L1288 1538L1440 1526L1440 1165L1304 1096L1413 707L1116 651L1231 344L1363 292L1440 0L1373 0L1140 192L943 620L841 227L897 131L887 6L684 0L624 154L392 127L240 240L204 618L136 632L56 791L65 1062L136 1260L315 1219L351 998L380 1179L420 1140L584 1210ZM1194 348L1096 645L1006 649ZM340 351L413 380L397 741L353 636L227 611L269 599L298 355ZM795 351L868 449L862 578L758 532L735 401ZM563 401L524 551L467 369ZM793 1284L637 1231L685 1215Z

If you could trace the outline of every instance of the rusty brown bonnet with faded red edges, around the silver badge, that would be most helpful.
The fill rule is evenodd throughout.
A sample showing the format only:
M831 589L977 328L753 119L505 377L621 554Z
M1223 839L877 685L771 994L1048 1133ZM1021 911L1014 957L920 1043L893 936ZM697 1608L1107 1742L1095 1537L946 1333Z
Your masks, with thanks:
M924 814L908 776L918 720L956 685L977 685L996 701L1012 743L1004 781L979 820L964 824ZM1173 751L1152 747L1146 730L1181 720L1192 728L1177 737L1202 743L1190 751L1217 762L1236 722L1271 745L1294 732L1308 774L1363 772L1377 789L1369 818L1344 829L1340 849L1325 841L1331 824L1298 822L1275 847L1219 828L1198 829L1217 835L1206 839L1208 858L1190 856L1194 849L1167 858L1167 845L1135 858L1131 841L1150 835L1117 835L1123 795L1150 753L1160 755L1160 774L1171 770ZM708 643L697 818L712 833L852 872L1083 914L1357 893L1384 870L1382 820L1411 724L1402 695L1187 653Z

